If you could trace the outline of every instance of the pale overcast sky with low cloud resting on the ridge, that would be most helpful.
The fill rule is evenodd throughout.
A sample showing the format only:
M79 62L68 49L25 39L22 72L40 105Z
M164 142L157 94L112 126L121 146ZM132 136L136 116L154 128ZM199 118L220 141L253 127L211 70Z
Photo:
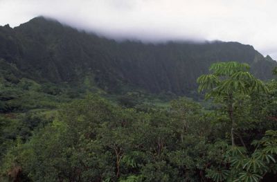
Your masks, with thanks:
M114 38L222 40L277 60L276 0L0 0L0 25L33 17Z

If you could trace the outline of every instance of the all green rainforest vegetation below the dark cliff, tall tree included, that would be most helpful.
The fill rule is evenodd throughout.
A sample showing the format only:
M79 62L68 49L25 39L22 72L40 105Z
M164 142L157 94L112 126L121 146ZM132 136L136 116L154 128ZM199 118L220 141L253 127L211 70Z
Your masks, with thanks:
M212 64L198 102L39 84L1 70L0 181L272 181L277 80ZM276 69L273 70L276 75ZM195 80L196 81L196 80Z

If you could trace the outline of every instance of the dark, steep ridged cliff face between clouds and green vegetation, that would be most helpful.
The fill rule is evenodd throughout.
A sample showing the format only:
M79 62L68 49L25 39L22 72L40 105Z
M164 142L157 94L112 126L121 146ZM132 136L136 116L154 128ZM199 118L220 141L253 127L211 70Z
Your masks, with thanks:
M16 28L0 27L0 58L37 81L80 83L107 91L136 87L151 92L193 91L213 62L247 62L261 79L276 62L238 42L116 42L37 17Z

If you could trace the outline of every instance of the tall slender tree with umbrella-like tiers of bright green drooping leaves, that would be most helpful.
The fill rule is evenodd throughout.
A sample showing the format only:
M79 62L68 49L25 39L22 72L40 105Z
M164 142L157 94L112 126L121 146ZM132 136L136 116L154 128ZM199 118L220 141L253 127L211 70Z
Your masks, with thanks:
M198 91L206 90L206 98L224 104L231 121L231 140L235 145L236 122L233 116L238 95L250 95L254 91L267 93L265 84L249 73L250 66L238 62L217 62L210 67L211 74L197 78Z

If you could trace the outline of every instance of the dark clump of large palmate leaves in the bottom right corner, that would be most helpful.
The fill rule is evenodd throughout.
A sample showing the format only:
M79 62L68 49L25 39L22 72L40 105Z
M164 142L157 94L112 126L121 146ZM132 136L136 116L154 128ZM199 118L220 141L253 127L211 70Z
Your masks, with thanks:
M226 149L217 167L207 170L213 181L260 181L267 173L276 174L276 131L269 130L261 140L253 141L256 149L249 154L244 147Z

